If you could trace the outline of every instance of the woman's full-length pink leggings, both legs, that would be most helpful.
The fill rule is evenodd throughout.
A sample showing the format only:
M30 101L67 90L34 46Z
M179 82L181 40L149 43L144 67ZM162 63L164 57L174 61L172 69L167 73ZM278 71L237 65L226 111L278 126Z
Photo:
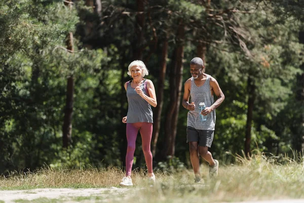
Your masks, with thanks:
M126 155L126 176L131 176L138 129L141 135L142 151L147 164L148 173L153 173L152 153L150 150L153 123L147 123L147 122L127 123L128 149Z

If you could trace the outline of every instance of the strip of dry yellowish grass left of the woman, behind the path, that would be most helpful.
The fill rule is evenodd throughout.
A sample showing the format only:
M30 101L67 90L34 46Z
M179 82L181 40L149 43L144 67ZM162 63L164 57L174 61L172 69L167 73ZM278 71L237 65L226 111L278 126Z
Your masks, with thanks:
M19 173L8 178L0 177L1 190L35 188L100 188L119 186L124 173L118 168L89 168L68 170L42 168L36 173Z

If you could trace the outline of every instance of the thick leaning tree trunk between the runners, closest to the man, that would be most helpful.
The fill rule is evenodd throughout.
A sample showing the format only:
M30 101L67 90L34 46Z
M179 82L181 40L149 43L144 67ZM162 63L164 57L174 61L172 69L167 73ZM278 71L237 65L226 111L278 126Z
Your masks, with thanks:
M180 19L176 35L177 47L174 50L174 57L172 60L173 69L170 72L170 104L166 119L166 139L165 146L162 152L163 157L174 156L175 153L176 127L178 121L178 112L182 87L184 32L185 27L182 19Z

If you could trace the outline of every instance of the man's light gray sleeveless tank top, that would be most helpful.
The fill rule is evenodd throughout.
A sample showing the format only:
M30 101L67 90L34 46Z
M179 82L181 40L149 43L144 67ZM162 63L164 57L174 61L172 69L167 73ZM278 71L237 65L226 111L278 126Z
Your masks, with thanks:
M207 115L206 121L200 120L201 111L199 110L199 104L201 102L204 102L206 107L210 107L214 103L213 95L211 95L210 92L210 75L207 75L205 83L200 87L195 84L194 78L191 78L190 97L191 102L195 103L195 110L188 112L187 126L198 130L214 130L215 110L211 111L210 114Z

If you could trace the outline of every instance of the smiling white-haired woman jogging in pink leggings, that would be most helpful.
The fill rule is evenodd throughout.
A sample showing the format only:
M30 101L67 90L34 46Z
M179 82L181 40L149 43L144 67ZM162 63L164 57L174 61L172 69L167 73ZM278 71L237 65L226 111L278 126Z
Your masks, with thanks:
M128 75L132 77L125 83L128 98L128 114L123 118L127 123L127 155L126 155L126 176L120 186L132 186L131 171L133 165L135 142L138 130L142 141L142 151L148 168L148 179L155 182L155 175L152 169L152 153L150 150L153 113L151 106L156 107L156 94L153 82L143 77L148 75L145 64L135 60L128 67Z

